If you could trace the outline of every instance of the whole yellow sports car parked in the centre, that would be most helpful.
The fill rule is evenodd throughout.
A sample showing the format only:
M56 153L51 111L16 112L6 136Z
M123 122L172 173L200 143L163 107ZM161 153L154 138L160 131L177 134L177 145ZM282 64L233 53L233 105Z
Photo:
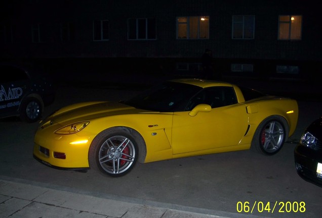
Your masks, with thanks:
M54 168L123 176L141 163L255 149L278 152L297 101L234 84L175 79L121 102L76 103L42 120L33 156Z

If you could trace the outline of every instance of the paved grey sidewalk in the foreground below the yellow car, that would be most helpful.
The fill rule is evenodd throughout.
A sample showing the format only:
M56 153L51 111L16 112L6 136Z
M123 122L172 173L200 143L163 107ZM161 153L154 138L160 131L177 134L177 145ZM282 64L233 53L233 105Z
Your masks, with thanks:
M64 187L46 187L0 176L0 218L235 218L258 217L158 202L143 202L122 196L96 197Z

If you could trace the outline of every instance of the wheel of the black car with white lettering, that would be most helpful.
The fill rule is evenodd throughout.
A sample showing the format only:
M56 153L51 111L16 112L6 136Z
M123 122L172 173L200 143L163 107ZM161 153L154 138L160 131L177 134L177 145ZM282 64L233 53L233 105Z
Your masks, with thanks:
M35 97L26 97L20 105L19 115L24 122L33 123L41 119L43 114L42 102Z

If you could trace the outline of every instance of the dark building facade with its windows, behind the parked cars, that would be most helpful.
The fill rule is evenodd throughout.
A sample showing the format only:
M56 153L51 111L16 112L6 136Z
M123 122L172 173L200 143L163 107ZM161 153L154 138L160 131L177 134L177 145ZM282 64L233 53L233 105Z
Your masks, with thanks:
M13 0L1 10L2 59L194 76L211 49L223 75L320 74L322 28L310 1Z

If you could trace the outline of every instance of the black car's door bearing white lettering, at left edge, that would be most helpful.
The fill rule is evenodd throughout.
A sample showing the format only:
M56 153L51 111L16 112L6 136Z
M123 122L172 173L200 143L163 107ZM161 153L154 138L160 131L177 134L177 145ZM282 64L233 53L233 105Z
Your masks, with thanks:
M0 65L0 115L17 114L24 92L29 88L29 77L15 66Z

